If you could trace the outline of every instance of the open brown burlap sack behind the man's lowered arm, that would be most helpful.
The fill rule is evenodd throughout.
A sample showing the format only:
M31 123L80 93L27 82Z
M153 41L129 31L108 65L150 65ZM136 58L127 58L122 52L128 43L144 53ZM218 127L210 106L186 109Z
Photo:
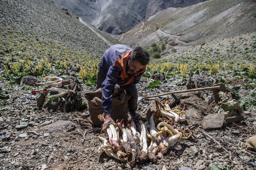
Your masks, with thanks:
M98 119L98 115L103 113L102 108L102 93L101 88L95 92L85 93L85 98L88 100L88 110L90 113L89 121L95 126L101 126L104 122ZM113 97L113 108L111 110L111 118L116 119L128 119L128 103L130 96L125 92L121 92L118 96Z

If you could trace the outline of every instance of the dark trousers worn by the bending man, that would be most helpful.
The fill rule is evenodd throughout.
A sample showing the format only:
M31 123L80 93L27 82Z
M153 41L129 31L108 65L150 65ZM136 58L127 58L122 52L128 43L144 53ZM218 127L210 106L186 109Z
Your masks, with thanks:
M105 65L104 60L101 60L99 64L99 72L97 76L95 90L101 87L102 83L104 82L107 76L108 69L104 67L104 65ZM135 113L135 111L137 110L137 100L138 100L138 92L136 89L136 84L132 83L125 86L120 86L120 89L121 91L125 91L126 94L130 95L130 99L128 100L128 110L130 113Z

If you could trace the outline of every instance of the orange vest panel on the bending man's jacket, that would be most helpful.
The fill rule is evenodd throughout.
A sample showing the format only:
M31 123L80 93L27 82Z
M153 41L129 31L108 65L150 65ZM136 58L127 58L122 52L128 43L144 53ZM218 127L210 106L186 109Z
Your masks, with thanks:
M114 66L119 67L122 71L121 75L119 76L122 80L124 78L128 78L128 81L120 86L128 85L130 83L133 83L135 81L134 76L139 76L140 73L143 73L146 70L146 66L142 68L141 71L137 71L134 74L128 74L126 73L127 69L127 62L130 60L130 53L132 51L129 50L121 55L120 58L116 59Z

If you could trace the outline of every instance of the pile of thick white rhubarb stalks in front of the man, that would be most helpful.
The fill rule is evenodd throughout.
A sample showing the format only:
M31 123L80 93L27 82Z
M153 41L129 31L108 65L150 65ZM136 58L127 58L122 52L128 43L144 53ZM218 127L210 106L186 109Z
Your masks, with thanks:
M105 152L120 161L128 161L134 167L136 162L155 163L166 154L169 147L192 135L192 131L188 129L173 129L172 126L186 120L184 110L171 110L168 99L156 101L156 108L156 112L148 115L144 122L130 119L121 120L116 127L110 124L107 129L108 139L98 136L102 144L97 153ZM103 115L99 118L104 119ZM165 121L159 121L161 119ZM155 122L159 122L157 126Z

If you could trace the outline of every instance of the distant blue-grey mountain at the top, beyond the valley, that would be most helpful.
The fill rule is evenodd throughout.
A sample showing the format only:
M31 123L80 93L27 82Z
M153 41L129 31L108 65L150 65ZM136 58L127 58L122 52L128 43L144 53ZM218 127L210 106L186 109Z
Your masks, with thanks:
M121 34L144 18L168 7L186 7L206 0L52 0L109 34Z

